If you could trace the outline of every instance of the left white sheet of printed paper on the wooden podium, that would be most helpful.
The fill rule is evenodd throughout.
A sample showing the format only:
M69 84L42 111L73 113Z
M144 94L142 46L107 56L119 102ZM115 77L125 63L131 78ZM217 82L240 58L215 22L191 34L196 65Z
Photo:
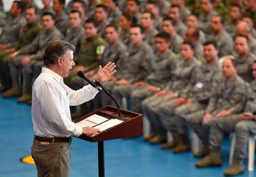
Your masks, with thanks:
M84 120L79 121L75 124L82 126L82 127L86 127L86 126L93 127L93 126L96 126L100 123L103 123L103 121L107 121L107 120L108 120L108 118L94 114L94 115L91 115L90 117L87 117Z

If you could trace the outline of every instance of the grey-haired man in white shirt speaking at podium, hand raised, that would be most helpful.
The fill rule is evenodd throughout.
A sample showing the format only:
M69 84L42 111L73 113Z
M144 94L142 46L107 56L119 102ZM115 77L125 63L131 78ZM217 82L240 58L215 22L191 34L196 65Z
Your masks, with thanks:
M43 56L45 67L32 89L32 120L35 137L32 157L38 176L69 176L71 136L98 134L99 129L80 127L72 122L70 105L93 99L98 91L84 86L74 91L63 82L75 65L75 47L66 41L52 41ZM116 72L114 63L99 67L96 80L105 83Z

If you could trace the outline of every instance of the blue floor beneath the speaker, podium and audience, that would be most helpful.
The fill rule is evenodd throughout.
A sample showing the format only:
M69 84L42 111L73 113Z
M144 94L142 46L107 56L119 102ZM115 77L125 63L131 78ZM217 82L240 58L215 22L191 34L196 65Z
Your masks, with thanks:
M19 161L30 154L33 139L30 111L29 105L0 97L0 177L36 176L34 165ZM200 158L192 157L189 152L173 154L171 150L161 150L160 145L144 142L142 137L117 139L105 142L105 176L223 176L223 171L228 168L228 139L224 139L222 155L222 167L197 169L195 162ZM247 160L245 164L247 168ZM96 143L74 138L70 176L98 176ZM246 170L239 176L256 176L256 172L249 173Z

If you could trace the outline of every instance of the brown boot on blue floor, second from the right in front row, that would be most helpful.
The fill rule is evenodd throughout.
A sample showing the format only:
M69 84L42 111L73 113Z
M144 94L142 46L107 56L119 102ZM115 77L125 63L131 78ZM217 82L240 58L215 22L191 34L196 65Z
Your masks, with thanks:
M203 160L195 163L196 167L218 167L222 165L221 155L218 152L210 152L207 156L203 157Z

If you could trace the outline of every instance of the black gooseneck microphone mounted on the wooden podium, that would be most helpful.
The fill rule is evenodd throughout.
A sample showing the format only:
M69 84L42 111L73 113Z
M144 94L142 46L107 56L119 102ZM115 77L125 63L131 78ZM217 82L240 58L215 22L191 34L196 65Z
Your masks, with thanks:
M93 86L94 88L98 89L98 91L103 91L104 93L106 93L109 97L111 97L111 99L113 99L113 101L116 103L116 107L117 107L117 113L119 117L122 117L122 113L121 113L121 109L120 109L120 104L119 102L116 100L116 98L113 97L112 94L110 94L102 85L100 82L98 81L91 81L89 78L87 78L87 76L79 71L77 72L77 75L82 78L83 80L87 81L87 83L89 83L91 86Z

